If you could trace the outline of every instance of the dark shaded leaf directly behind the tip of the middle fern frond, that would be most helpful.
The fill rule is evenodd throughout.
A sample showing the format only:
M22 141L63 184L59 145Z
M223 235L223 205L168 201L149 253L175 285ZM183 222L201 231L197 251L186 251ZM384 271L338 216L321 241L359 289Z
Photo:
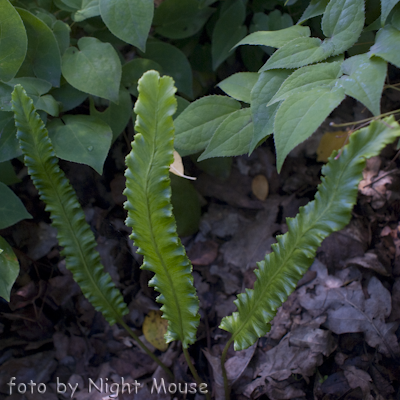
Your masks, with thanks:
M161 65L162 72L174 78L177 89L193 97L192 67L181 50L169 43L149 41L143 57Z

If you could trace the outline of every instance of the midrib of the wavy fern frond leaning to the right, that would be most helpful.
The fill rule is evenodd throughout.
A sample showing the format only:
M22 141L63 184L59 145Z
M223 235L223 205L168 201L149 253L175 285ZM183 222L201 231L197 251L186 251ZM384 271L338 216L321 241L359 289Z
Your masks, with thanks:
M352 160L349 160L349 162L346 164L346 168L343 168L343 169L342 169L339 179L336 180L336 182L335 182L335 183L336 183L336 185L335 185L335 193L336 193L337 190L338 190L338 186L339 186L339 183L340 183L340 181L341 181L341 178L342 178L343 174L346 172L346 169L347 169L348 165L349 165L351 162L353 162L353 159L352 159ZM289 261L289 260L291 259L291 257L292 257L293 252L294 252L294 251L297 249L297 247L298 247L298 242L299 242L310 230L314 229L314 226L320 221L320 219L321 219L321 218L326 214L326 212L330 209L330 207L332 206L332 203L333 203L333 200L332 200L332 199L333 199L333 196L330 197L329 203L328 203L327 206L324 208L323 212L320 213L318 219L314 219L312 225L311 225L307 230L305 230L304 233L303 233L302 235L297 235L297 240L296 240L295 245L292 247L291 251L290 251L290 252L288 253L288 255L285 257L284 262L282 262L281 267L278 268L278 270L275 272L275 274L273 275L273 278L270 280L270 282L261 290L261 295L258 296L258 299L257 299L257 300L255 301L255 303L254 303L253 311L252 311L251 313L248 313L248 314L246 315L246 317L244 318L244 320L243 320L243 322L242 322L240 328L237 328L237 329L235 330L235 333L232 335L232 340L235 340L235 338L240 334L240 332L242 331L242 329L244 329L244 328L247 326L247 324L249 323L249 321L251 320L251 318L252 318L253 315L254 315L254 310L257 310L257 309L259 308L260 304L262 303L262 301L264 300L265 293L267 292L268 288L269 288L269 287L272 285L272 283L275 281L276 276L277 276L277 275L280 275L280 274L282 273L282 271L285 269L285 267L286 267L288 261Z

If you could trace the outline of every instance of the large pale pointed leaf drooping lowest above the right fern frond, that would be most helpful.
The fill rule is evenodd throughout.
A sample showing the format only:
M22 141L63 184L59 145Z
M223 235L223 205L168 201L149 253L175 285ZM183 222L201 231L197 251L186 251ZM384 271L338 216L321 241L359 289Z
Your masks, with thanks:
M341 87L321 87L296 93L282 103L274 127L278 171L290 151L311 136L344 98Z

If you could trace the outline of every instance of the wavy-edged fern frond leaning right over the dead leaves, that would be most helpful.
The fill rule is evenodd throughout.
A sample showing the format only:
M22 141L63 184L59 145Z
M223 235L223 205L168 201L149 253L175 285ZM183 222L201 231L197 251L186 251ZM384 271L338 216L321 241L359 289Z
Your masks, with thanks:
M374 121L351 135L338 159L337 152L330 157L315 200L301 207L295 218L287 218L288 232L278 236L272 253L257 263L254 289L239 294L238 311L221 322L220 328L232 333L235 350L251 346L268 332L276 310L312 264L322 240L349 223L365 159L378 155L397 136L400 128L393 117Z

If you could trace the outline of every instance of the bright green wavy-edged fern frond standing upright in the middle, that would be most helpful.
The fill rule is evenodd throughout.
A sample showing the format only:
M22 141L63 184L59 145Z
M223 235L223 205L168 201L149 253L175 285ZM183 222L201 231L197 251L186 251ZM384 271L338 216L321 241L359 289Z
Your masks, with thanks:
M196 340L199 301L170 202L176 89L172 78L148 71L139 80L138 91L137 134L126 157L126 225L132 227L131 239L144 256L142 268L155 273L149 285L161 293L157 301L163 303L163 317L168 320L165 339L181 340L187 348Z

